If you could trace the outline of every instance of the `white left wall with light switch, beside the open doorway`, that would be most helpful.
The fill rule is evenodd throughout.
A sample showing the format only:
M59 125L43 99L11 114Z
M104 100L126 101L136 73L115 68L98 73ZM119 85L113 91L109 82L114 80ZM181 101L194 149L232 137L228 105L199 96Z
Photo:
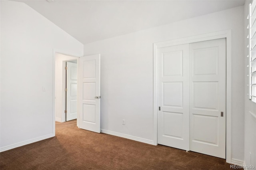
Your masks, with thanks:
M83 45L26 4L0 3L3 151L54 136L53 49L82 56Z

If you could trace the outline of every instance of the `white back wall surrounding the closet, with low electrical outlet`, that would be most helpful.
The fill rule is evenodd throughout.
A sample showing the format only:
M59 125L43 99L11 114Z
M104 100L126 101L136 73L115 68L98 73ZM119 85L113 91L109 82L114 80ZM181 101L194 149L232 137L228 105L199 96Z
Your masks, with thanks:
M101 128L153 140L153 43L232 30L232 158L244 160L243 6L84 45L101 54ZM122 125L122 119L126 125Z

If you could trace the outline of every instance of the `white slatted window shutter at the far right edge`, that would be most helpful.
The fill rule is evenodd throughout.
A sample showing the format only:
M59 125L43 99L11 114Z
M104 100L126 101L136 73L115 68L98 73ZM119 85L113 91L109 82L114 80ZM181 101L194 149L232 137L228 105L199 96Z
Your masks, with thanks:
M248 14L248 58L249 64L249 99L256 103L256 0L249 5Z

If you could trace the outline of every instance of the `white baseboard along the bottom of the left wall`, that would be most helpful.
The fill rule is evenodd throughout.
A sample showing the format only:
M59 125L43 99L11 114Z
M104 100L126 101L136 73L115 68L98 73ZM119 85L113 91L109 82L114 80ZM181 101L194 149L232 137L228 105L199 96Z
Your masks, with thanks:
M24 146L24 145L26 145L26 144L38 142L38 141L40 141L40 140L44 140L44 139L51 138L51 137L54 137L54 136L55 136L54 134L47 134L47 135L45 135L45 136L41 136L41 137L38 137L38 138L26 140L26 141L24 141L24 142L19 142L19 143L16 143L16 144L11 144L11 145L8 145L8 146L4 146L4 147L1 147L1 148L0 148L0 152L4 152L4 151L6 151L6 150L10 150L10 149L13 149L13 148L17 148L17 147L20 147L20 146Z

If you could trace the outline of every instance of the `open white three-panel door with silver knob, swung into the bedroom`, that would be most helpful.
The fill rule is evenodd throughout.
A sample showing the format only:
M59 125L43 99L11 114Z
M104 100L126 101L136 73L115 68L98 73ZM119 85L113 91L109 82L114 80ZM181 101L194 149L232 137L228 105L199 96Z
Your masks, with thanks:
M100 54L80 57L80 128L100 133Z

